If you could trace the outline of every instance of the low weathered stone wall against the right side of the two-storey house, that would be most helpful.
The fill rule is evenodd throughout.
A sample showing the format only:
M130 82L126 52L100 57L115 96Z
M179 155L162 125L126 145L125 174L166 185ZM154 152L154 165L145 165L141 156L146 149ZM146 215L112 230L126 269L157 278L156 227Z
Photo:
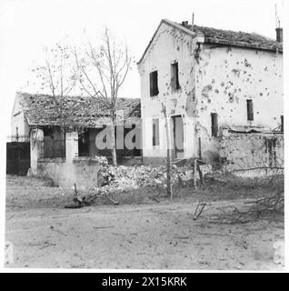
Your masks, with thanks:
M284 135L223 131L219 155L225 172L246 172L255 176L270 168L278 170L284 167Z

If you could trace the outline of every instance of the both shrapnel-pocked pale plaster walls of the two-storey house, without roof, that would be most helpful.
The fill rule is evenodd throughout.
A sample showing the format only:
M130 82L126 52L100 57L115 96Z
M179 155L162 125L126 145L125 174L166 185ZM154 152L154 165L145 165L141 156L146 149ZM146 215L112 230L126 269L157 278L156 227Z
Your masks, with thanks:
M221 126L270 131L281 125L282 52L243 45L209 44L202 34L166 20L161 22L138 65L145 162L159 162L166 156L162 103L167 115L183 117L184 153L180 157L184 158L198 156L206 162L219 161ZM177 90L171 83L175 63L180 85ZM157 90L153 88L152 95L150 83L154 76L150 73L155 71ZM153 146L155 119L160 119L159 144Z

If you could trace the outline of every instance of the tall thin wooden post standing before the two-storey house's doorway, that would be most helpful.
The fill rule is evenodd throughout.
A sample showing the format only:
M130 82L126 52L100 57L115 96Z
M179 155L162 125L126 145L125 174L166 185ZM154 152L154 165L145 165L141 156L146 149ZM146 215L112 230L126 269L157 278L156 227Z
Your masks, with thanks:
M173 199L173 187L172 187L172 152L171 152L171 133L170 133L170 120L166 115L166 107L162 103L164 120L165 120L165 133L166 133L166 191L167 196Z

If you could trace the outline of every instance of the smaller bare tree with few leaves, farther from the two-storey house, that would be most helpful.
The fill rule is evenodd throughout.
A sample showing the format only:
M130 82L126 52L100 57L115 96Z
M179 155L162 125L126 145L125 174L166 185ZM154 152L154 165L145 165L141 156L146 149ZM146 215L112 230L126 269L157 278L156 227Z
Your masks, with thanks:
M68 105L65 104L65 97L76 85L71 49L68 45L56 44L52 48L45 47L44 51L44 65L38 65L32 71L38 80L37 91L52 96L61 131L64 134L65 126L69 123L67 119L72 115L67 108Z

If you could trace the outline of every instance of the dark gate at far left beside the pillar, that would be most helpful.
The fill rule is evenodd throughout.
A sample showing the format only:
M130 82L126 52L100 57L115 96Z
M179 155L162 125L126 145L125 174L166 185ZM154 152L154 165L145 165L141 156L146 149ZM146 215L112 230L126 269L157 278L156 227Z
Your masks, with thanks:
M6 143L6 174L26 176L30 168L30 142Z

